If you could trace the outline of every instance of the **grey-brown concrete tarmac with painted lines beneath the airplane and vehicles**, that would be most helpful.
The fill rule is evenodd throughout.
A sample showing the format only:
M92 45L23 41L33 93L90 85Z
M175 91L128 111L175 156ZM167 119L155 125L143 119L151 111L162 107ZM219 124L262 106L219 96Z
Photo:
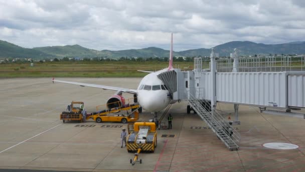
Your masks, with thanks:
M66 122L59 119L71 101L95 112L114 91L52 83L52 78L0 79L0 170L2 171L305 171L305 119L260 113L240 106L240 148L230 151L187 102L173 104L173 129L158 130L155 153L120 147L121 123ZM56 78L136 89L140 78ZM132 98L130 94L124 97ZM234 119L230 104L218 104ZM304 111L302 111L304 112ZM140 114L147 121L150 113ZM167 116L165 117L165 119ZM163 121L167 123L166 120ZM162 137L164 135L165 137ZM173 136L174 135L174 136ZM170 137L173 136L173 137ZM297 149L270 149L264 143L296 144Z

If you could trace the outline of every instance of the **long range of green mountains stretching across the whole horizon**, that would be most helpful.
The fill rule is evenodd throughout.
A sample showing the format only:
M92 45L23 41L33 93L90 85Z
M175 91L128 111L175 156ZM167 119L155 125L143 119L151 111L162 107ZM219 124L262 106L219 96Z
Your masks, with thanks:
M229 56L237 48L239 55L254 54L305 54L305 41L285 44L261 44L250 41L232 41L214 47L220 56ZM199 48L180 52L173 52L174 56L210 56L211 49ZM169 57L170 51L162 48L148 47L110 51L97 51L80 45L49 46L37 48L23 48L0 40L0 57Z

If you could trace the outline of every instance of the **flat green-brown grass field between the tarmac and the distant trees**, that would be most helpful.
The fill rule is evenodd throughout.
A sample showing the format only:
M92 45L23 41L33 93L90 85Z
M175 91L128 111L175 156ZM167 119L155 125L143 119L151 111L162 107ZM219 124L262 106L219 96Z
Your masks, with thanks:
M174 62L174 67L192 70L193 62ZM177 66L176 66L177 65ZM0 78L12 77L143 77L147 73L168 67L168 62L45 62L0 64Z

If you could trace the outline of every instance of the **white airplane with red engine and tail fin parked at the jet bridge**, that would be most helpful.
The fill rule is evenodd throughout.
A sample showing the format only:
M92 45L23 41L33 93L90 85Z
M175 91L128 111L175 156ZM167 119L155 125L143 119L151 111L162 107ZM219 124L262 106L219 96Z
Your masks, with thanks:
M170 60L169 60L169 67L152 72L152 71L145 71L145 70L138 70L142 72L148 72L146 76L144 76L138 87L137 90L132 89L125 89L125 88L118 88L118 87L111 87L107 85L98 85L98 84L90 84L90 83L81 83L81 82L71 82L71 81L64 81L64 80L55 80L52 79L54 82L62 82L62 83L70 83L80 85L82 87L94 87L100 88L103 90L113 90L117 91L113 96L111 96L107 100L108 108L115 108L118 105L113 104L114 102L120 102L120 105L124 105L125 101L122 97L122 93L130 93L134 95L134 98L137 98L137 101L141 108L146 112L151 112L157 114L158 112L165 109L169 104L175 103L172 101L171 94L169 93L168 88L166 87L165 83L158 78L158 74L166 71L174 70L173 68L173 33L171 38L171 50L170 50ZM109 107L110 106L110 107ZM112 107L111 107L112 106Z

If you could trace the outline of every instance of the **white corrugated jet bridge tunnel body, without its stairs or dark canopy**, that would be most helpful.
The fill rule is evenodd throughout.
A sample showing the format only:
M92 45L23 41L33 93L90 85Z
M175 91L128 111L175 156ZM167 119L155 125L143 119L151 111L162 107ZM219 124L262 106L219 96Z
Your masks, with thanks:
M215 61L212 58L211 62ZM293 59L296 57L290 57ZM267 66L257 67L252 71L239 72L238 66L241 64L232 64L233 72L217 72L222 70L217 64L217 70L202 69L201 58L195 58L193 71L177 70L177 92L174 92L174 100L188 100L189 94L196 99L211 101L212 106L216 107L217 102L257 106L275 109L296 109L305 108L305 57L301 56L299 61L302 63L299 68L294 66L279 66L282 71L266 71ZM244 59L236 59L244 60ZM265 61L259 57L260 61ZM300 63L297 61L298 63ZM287 62L281 61L282 64ZM289 61L293 65L293 61ZM295 63L296 64L296 63ZM210 64L211 66L212 64ZM242 66L245 68L245 66ZM248 67L249 68L249 67ZM290 71L283 71L292 68ZM259 71L263 69L263 71ZM299 69L299 71L296 71ZM213 100L214 99L214 100Z

